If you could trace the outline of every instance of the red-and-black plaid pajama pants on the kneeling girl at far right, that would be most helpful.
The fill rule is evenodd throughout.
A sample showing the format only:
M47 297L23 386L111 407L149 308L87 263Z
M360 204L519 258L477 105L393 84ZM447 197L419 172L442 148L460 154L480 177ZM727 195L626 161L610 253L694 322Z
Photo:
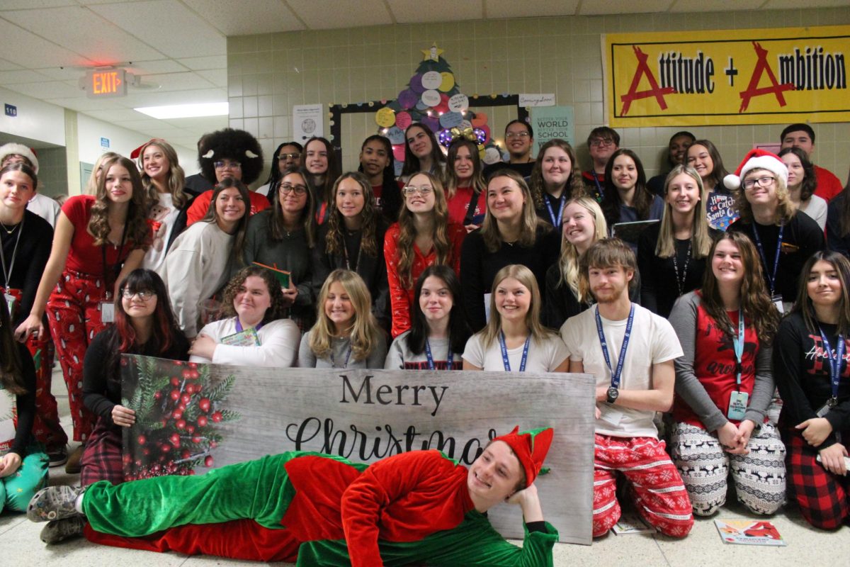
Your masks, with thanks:
M796 431L783 431L788 496L800 505L809 524L834 530L850 517L850 479L827 471L815 460L818 452Z

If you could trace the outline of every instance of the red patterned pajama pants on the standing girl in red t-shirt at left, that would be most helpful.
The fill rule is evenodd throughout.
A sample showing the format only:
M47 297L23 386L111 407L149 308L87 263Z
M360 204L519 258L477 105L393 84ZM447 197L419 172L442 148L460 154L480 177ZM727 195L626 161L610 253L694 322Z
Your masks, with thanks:
M88 343L106 328L100 320L104 298L101 278L65 270L48 299L50 333L68 387L75 441L88 439L94 428L94 413L82 403L82 360Z

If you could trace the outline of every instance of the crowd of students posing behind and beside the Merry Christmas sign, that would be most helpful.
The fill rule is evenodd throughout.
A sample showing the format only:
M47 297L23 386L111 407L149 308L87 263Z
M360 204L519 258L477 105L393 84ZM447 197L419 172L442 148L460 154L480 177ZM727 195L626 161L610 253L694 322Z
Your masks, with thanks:
M508 125L512 138L527 127ZM632 481L644 519L672 536L688 533L692 510L723 504L729 470L754 512L785 502L787 470L788 493L810 523L833 528L847 519L850 264L822 252L823 228L802 212L802 203L813 206L813 188L794 199L791 185L813 179L805 154L783 156L802 170L761 150L745 156L724 181L740 218L722 232L706 214L720 190L719 155L707 140L689 145L684 155L696 167L673 167L663 199L643 198L643 169L629 150L611 152L603 183L593 173L596 192L581 183L575 151L562 140L541 148L528 183L515 167L485 181L477 147L457 140L443 172L433 133L413 124L398 182L380 136L363 145L363 173L337 177L325 140L308 142L304 167L295 163L297 146L281 145L263 205L245 185L258 176L261 152L234 143L225 135L232 132L199 145L205 176L217 181L201 220L187 218L180 232L180 218L204 194L184 200L169 181L182 177L176 154L151 140L139 150L142 176L126 158L106 159L93 176L96 195L63 205L49 258L48 231L26 240L33 258L41 242L43 267L17 288L6 276L6 288L24 291L12 311L19 339L45 336L47 308L74 437L87 440L83 485L120 481L118 432L133 413L119 404L119 353L246 366L569 370L598 382L594 536L619 517L616 471ZM25 223L36 224L26 212L36 186L26 164L0 170L4 251L16 228L20 240ZM170 207L163 195L172 196ZM655 209L660 222L644 230L637 254L607 238L611 224ZM166 252L151 260L155 269L136 269L153 250ZM257 264L288 271L289 286ZM14 276L12 267L3 258ZM205 302L227 281L225 318L198 331ZM256 345L223 341L245 332ZM783 346L772 355L774 342ZM766 417L776 387L779 433ZM9 391L24 389L19 382ZM672 460L654 422L671 408ZM7 455L27 454L17 448L23 454Z

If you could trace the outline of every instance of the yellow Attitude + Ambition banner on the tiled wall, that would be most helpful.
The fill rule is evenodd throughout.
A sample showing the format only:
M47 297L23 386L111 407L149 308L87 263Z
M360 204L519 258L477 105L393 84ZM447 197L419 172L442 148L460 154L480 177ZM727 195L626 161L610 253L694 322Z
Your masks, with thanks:
M612 127L850 122L850 26L602 37Z

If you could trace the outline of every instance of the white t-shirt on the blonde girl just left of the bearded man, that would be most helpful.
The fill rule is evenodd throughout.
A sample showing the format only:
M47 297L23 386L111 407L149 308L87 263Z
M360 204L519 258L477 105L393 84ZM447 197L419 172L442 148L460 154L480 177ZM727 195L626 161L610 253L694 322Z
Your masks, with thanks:
M516 349L507 349L507 360L511 371L519 372L523 360L524 344ZM558 335L549 335L543 341L531 339L528 358L525 360L526 372L553 372L567 360L570 351L564 346ZM501 345L496 339L484 349L484 333L479 332L469 337L467 347L463 350L463 360L488 371L505 371L505 363L501 360Z

